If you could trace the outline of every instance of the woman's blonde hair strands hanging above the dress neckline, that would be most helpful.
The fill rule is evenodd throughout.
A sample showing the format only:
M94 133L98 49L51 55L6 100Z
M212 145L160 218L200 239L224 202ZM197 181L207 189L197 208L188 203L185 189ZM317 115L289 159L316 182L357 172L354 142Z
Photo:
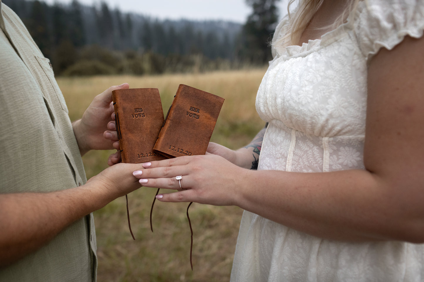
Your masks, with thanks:
M278 46L289 46L297 44L300 37L302 36L303 31L307 28L310 20L321 7L324 1L325 0L289 0L287 6L289 28L285 30L284 36L276 41L273 41L272 44ZM326 29L330 27L334 29L350 17L353 17L354 11L356 10L359 1L360 0L346 0L346 8L335 20L335 22L330 26L326 26L320 29ZM295 12L291 13L290 6L296 2L298 2L298 6L296 7Z

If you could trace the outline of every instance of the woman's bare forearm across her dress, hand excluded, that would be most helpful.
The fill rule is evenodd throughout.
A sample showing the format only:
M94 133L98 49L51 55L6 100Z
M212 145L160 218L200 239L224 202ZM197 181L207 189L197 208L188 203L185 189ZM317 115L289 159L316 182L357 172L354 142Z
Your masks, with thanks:
M322 238L423 242L423 199L390 183L365 170L248 171L233 195L245 210Z

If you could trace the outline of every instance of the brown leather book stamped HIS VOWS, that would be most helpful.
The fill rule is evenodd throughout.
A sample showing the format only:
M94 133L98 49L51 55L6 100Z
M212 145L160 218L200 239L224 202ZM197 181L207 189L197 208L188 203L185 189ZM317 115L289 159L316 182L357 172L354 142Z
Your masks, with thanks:
M164 118L157 88L112 91L123 163L145 163L165 157L153 151Z

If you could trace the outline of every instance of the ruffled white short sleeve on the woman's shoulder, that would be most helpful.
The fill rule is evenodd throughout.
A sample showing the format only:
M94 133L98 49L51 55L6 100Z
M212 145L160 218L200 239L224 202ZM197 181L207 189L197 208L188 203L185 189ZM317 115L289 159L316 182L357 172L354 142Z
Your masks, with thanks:
M359 48L369 61L380 48L391 50L405 36L423 36L424 0L363 0L353 28Z

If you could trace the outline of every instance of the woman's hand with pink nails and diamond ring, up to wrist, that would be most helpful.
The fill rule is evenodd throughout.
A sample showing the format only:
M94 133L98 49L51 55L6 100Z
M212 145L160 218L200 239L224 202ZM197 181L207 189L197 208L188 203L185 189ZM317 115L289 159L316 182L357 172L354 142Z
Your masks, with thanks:
M182 156L143 163L134 171L145 187L178 190L159 194L162 202L198 202L209 205L237 205L237 189L243 188L247 169L218 155ZM181 180L176 177L181 175ZM181 188L180 188L181 183Z

